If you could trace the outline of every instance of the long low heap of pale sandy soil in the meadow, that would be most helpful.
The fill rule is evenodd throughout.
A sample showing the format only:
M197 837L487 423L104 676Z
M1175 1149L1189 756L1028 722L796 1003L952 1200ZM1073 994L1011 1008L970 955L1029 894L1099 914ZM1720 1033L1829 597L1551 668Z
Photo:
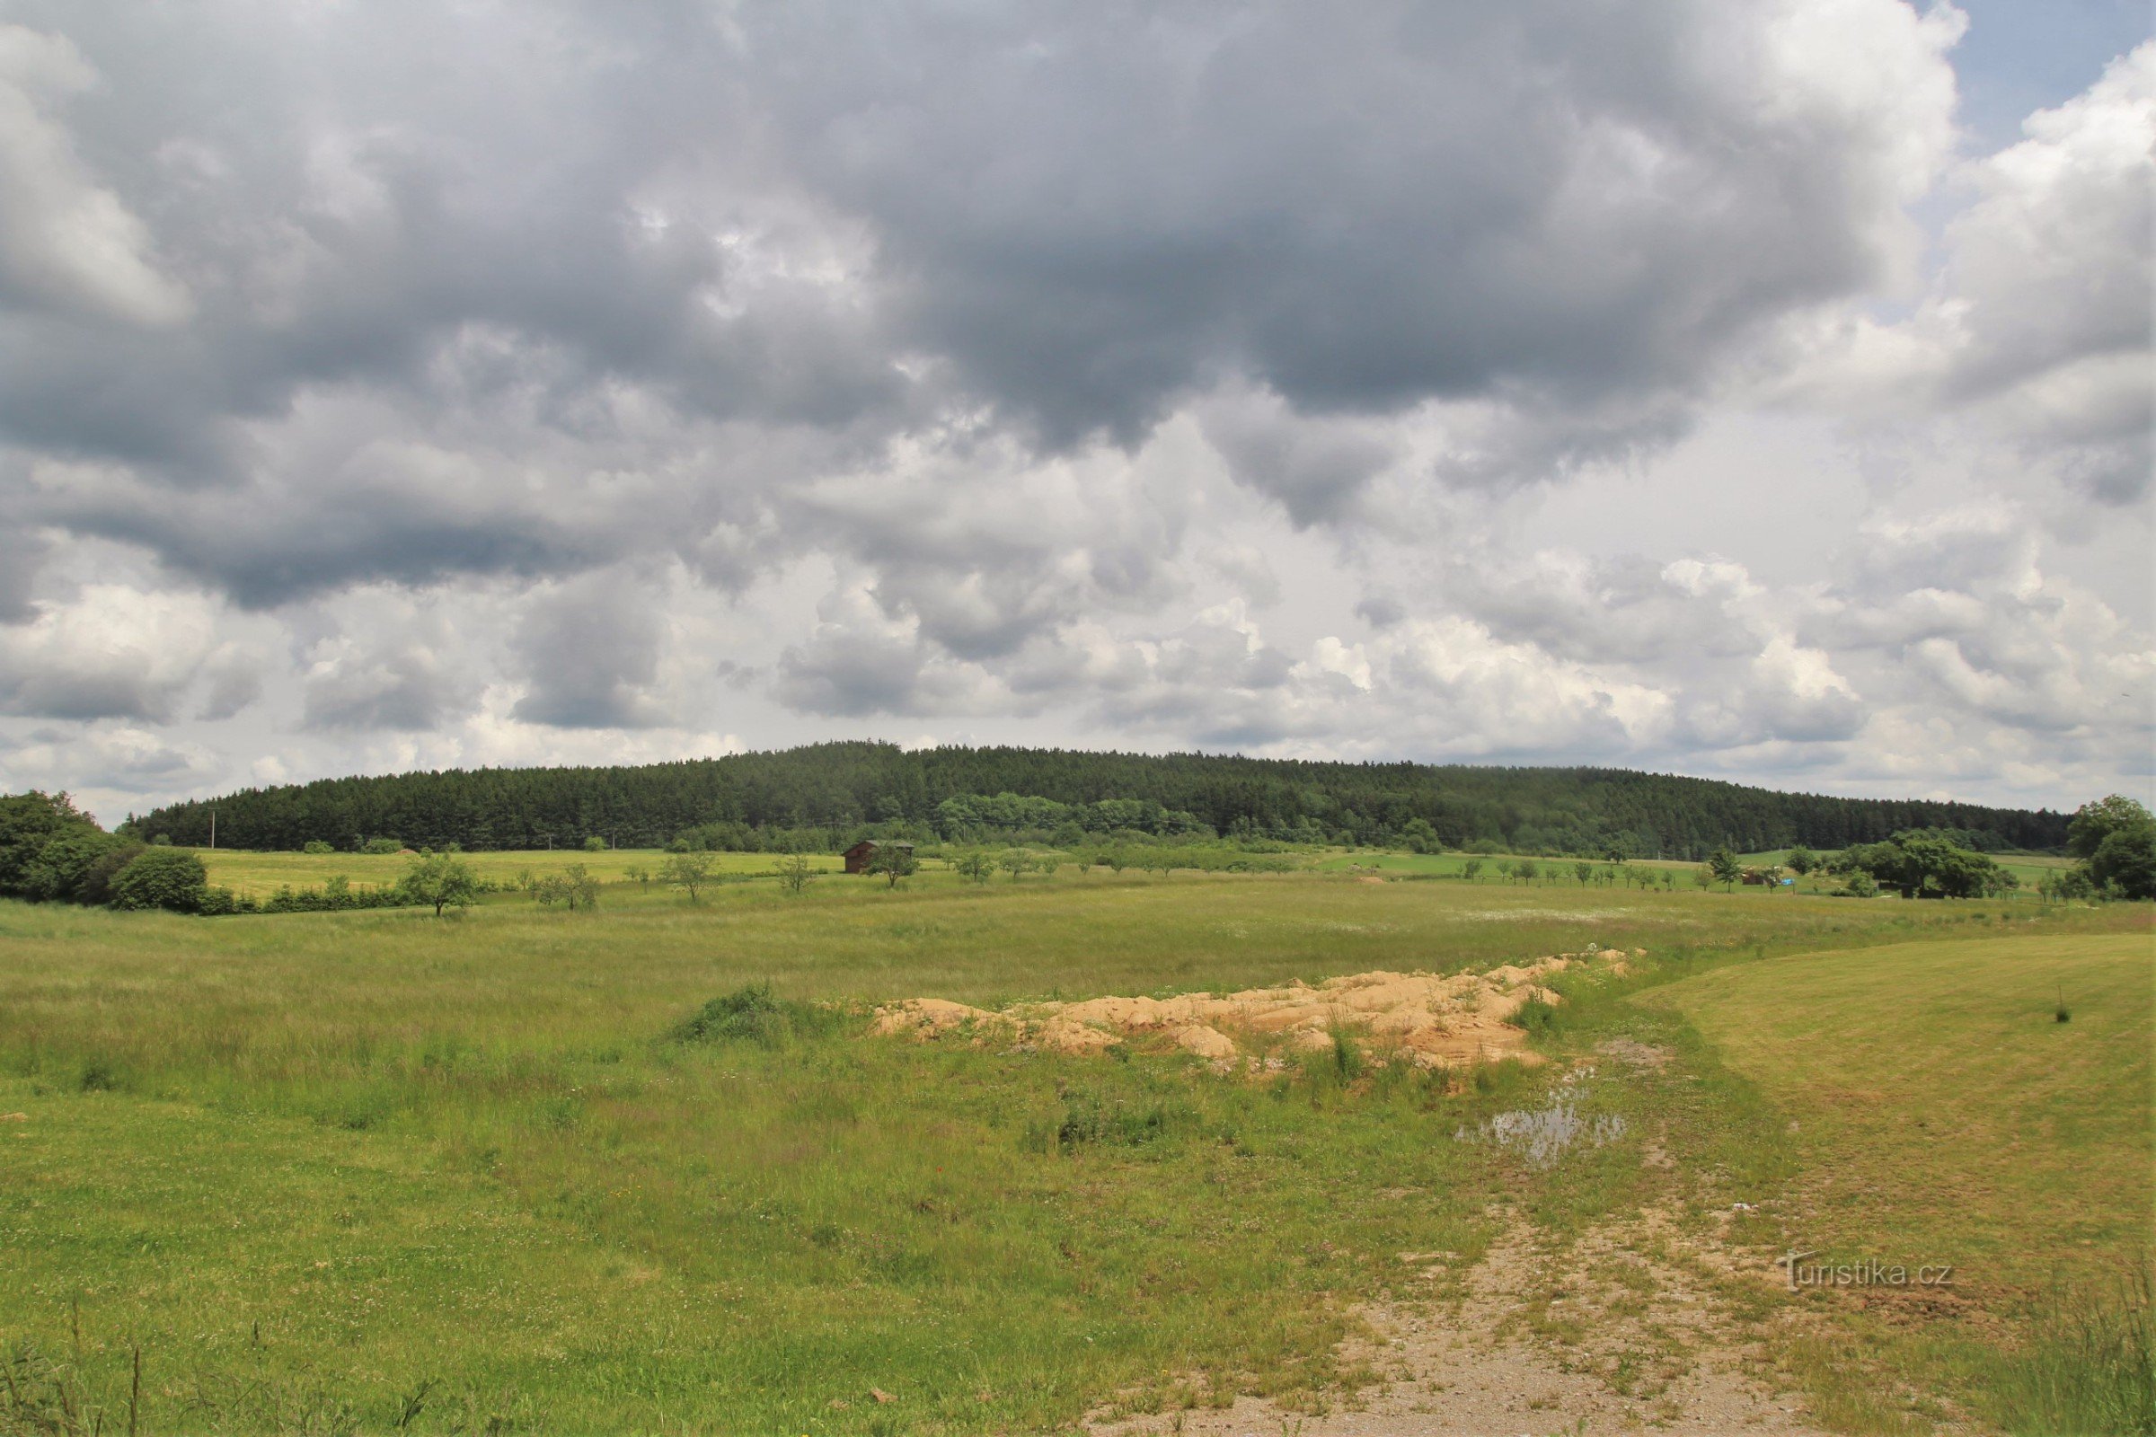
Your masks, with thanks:
M1643 952L1636 957L1645 957ZM1184 993L1179 997L1091 997L1074 1004L1018 1004L1005 1010L968 1008L940 997L910 997L875 1010L875 1032L921 1041L1020 1043L1063 1054L1097 1054L1123 1041L1151 1038L1162 1047L1233 1064L1248 1049L1330 1049L1345 1030L1373 1054L1397 1054L1425 1069L1466 1066L1496 1058L1535 1062L1526 1032L1511 1023L1533 997L1554 1004L1542 980L1593 963L1623 974L1626 954L1563 952L1535 963L1492 967L1485 974L1352 974L1317 987L1291 982L1242 993Z

